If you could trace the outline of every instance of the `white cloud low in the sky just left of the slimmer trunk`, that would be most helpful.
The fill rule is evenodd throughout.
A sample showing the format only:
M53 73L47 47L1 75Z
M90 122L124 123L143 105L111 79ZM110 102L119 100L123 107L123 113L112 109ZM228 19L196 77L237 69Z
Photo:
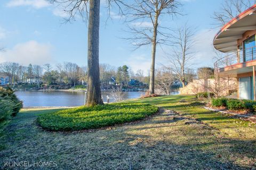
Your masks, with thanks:
M124 62L124 64L130 66L130 69L133 72L137 72L137 70L143 70L145 74L148 73L148 70L150 70L150 61L151 57L146 57L145 55L132 55L128 58L127 61Z

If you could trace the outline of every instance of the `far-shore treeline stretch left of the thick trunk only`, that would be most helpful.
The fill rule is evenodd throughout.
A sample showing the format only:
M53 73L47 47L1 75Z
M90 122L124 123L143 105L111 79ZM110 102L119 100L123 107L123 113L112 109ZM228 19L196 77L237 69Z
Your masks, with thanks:
M50 86L75 86L78 82L86 80L86 67L79 67L75 63L64 62L53 67L51 64L20 65L19 63L5 62L0 64L0 73L9 77L9 84L12 86L29 83Z

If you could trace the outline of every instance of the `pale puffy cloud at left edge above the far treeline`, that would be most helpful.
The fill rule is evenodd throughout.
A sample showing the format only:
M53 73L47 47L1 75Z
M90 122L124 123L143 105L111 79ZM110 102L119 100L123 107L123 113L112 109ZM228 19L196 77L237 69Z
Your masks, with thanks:
M17 62L23 65L38 64L42 65L52 61L52 46L41 44L31 40L26 43L15 45L12 49L0 53L0 63Z

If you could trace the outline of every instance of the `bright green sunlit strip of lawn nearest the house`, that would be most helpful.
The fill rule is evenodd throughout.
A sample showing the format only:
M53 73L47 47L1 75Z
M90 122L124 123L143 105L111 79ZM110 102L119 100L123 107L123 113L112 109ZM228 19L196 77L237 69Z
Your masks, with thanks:
M185 99L185 103L180 103L181 99ZM134 101L132 101L134 102ZM204 109L202 101L195 98L195 96L189 95L177 95L177 96L164 96L156 98L147 98L135 100L135 102L149 103L158 107L171 109L180 113L182 116L197 118L210 125L213 128L218 129L224 134L228 134L229 137L244 139L256 139L256 124L239 120L226 114L216 113Z

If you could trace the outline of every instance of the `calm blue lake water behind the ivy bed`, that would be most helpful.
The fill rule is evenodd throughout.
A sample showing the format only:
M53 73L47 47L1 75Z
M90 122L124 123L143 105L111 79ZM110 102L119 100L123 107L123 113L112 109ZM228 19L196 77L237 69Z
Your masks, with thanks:
M16 91L15 94L23 101L23 106L81 106L84 105L84 92L66 91ZM138 98L145 92L124 92L124 99ZM110 92L102 91L103 101L115 101Z

